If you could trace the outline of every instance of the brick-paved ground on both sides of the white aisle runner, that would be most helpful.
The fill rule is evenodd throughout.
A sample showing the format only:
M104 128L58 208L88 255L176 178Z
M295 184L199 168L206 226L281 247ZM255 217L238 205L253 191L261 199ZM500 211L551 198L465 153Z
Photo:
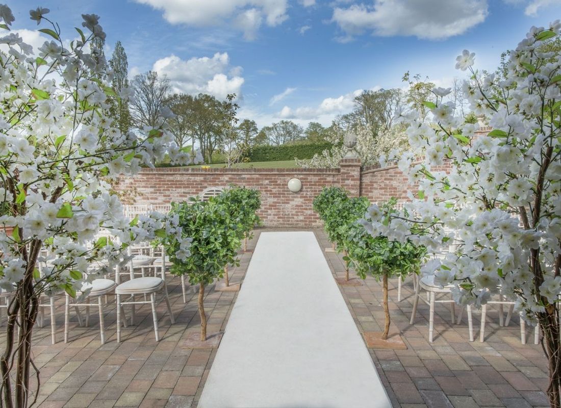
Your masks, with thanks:
M256 237L259 235L257 232ZM322 247L330 246L323 231L316 231ZM254 247L256 240L250 242ZM344 276L341 256L325 254L337 277ZM231 282L240 282L251 254L241 255L239 268L231 268ZM392 282L395 284L397 282ZM40 407L195 407L214 359L215 350L183 348L188 333L197 332L199 316L196 296L183 304L179 279L168 283L176 324L162 317L160 334L154 340L150 308L137 310L137 324L123 329L116 342L114 308L107 308L108 341L99 344L96 309L89 328L77 326L72 313L71 341L63 339L63 304L57 302L57 340L50 345L50 329L35 334L35 362L41 369ZM390 286L392 287L392 286ZM488 310L486 341L467 341L467 323L449 324L444 305L436 305L435 341L428 342L428 306L420 304L414 326L412 285L406 282L404 299L396 302L390 289L390 313L401 329L407 350L371 350L371 356L395 407L541 407L547 406L542 392L547 384L546 361L540 346L522 345L518 319L510 327L498 327L498 313ZM373 278L360 287L343 287L343 296L360 331L379 331L384 315L381 287ZM226 327L236 294L209 290L205 308L209 333ZM479 338L478 311L474 311L475 336ZM47 319L48 320L48 319ZM466 320L466 319L465 319ZM491 322L493 320L493 322ZM0 332L0 344L4 334ZM528 329L528 342L533 334ZM344 346L344 345L343 345ZM326 356L329 358L329 356ZM351 407L350 407L351 408Z

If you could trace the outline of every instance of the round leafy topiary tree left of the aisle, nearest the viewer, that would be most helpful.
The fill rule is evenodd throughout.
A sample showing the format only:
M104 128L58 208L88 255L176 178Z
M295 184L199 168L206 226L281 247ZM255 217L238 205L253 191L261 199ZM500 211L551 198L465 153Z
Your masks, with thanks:
M204 309L205 286L223 276L224 267L232 260L232 239L237 222L232 219L223 201L211 199L173 203L172 218L182 228L184 237L190 237L190 257L179 259L182 242L171 236L163 237L163 244L171 262L171 273L187 275L191 285L199 285L200 340L206 340L206 315Z

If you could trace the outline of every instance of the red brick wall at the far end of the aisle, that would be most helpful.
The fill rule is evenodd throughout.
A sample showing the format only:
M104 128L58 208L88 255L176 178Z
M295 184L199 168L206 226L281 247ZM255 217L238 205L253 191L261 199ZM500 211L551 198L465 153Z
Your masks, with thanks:
M483 132L489 129L482 130ZM435 168L446 170L447 166ZM288 180L298 178L302 190L288 190ZM366 196L379 203L396 197L407 200L407 177L396 166L361 169L359 159L343 159L340 168L320 169L142 169L134 178L119 183L119 189L135 187L136 204L168 204L200 195L209 187L229 184L261 191L259 216L268 227L316 227L321 222L312 209L312 201L324 186L341 186L351 196Z

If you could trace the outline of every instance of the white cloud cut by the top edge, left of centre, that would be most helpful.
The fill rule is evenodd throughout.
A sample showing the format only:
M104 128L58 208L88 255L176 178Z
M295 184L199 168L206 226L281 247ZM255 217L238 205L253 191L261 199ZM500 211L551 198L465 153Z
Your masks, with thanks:
M221 26L231 22L246 39L255 39L263 19L269 26L288 18L287 0L135 0L164 12L171 24ZM310 3L312 0L304 0Z

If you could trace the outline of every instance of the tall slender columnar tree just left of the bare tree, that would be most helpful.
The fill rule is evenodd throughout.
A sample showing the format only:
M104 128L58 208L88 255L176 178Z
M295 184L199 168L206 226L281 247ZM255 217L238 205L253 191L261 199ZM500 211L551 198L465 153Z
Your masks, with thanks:
M120 41L115 44L115 49L109 66L113 70L113 81L111 86L117 95L121 95L123 89L128 89L128 61L125 48ZM111 113L117 122L117 127L122 133L130 130L132 125L132 117L129 109L128 98L112 98Z

